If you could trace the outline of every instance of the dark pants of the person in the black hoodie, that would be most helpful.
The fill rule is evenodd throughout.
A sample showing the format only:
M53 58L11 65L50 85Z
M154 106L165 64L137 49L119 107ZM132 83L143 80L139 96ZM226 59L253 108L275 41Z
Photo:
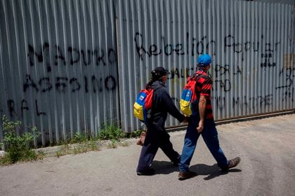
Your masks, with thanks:
M169 138L170 136L165 130L147 129L145 144L141 148L138 160L137 172L142 172L152 165L158 148L162 149L171 162L179 162L181 156L174 151Z

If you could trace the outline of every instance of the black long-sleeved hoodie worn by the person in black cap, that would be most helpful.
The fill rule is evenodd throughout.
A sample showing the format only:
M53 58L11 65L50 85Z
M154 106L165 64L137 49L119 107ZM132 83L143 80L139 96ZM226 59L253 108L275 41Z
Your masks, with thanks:
M180 123L183 122L185 116L176 108L165 84L157 80L152 83L152 89L154 90L152 97L152 118L147 121L147 127L164 130L167 113L170 113Z

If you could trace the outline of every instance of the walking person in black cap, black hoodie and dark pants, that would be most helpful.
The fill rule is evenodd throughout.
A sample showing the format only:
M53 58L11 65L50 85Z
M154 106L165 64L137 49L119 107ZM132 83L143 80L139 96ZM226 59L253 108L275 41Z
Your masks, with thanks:
M183 114L178 111L169 92L165 86L167 80L166 71L162 66L158 66L152 70L152 78L145 85L146 89L152 88L154 94L152 97L152 116L147 120L147 133L145 142L140 152L138 167L136 172L138 175L152 175L155 170L150 166L154 160L158 148L161 148L165 155L173 162L173 165L178 166L181 155L174 151L170 141L170 136L166 132L164 124L167 118L167 113L176 118L180 123L187 120Z

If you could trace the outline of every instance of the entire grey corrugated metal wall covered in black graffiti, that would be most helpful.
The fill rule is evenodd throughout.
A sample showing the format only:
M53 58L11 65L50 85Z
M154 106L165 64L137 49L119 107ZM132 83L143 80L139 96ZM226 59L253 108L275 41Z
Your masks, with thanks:
M37 126L44 146L110 122L131 132L150 71L169 69L178 106L204 52L216 120L295 109L294 28L282 3L0 0L0 114Z

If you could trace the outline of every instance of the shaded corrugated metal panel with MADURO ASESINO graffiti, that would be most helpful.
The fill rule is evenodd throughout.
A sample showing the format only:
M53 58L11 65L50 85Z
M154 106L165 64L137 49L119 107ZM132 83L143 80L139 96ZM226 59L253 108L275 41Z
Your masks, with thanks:
M1 114L41 143L119 125L113 1L0 1ZM109 122L112 120L112 122Z

